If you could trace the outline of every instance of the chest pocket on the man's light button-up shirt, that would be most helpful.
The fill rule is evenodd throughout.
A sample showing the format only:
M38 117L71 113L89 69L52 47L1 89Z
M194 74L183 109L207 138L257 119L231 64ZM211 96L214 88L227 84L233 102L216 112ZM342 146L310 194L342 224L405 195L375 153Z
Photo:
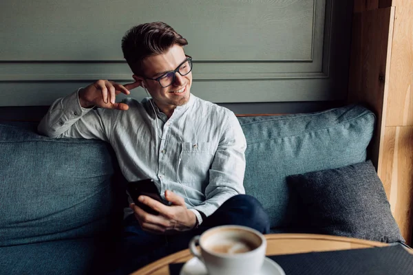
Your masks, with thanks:
M183 142L178 169L180 181L186 184L192 183L189 186L193 188L197 188L193 185L207 181L214 155L215 145L211 142Z

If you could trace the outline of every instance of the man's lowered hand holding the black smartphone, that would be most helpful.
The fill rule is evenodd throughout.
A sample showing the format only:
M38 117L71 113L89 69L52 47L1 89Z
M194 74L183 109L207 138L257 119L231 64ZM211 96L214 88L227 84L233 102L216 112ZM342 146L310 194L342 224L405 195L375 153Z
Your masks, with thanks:
M169 190L165 191L165 197L168 201L171 201L171 206L165 206L147 196L138 198L140 202L158 211L158 215L149 214L136 206L135 203L131 203L129 207L134 210L140 227L155 234L162 234L171 230L191 230L195 226L196 217L191 210L187 209L184 199Z

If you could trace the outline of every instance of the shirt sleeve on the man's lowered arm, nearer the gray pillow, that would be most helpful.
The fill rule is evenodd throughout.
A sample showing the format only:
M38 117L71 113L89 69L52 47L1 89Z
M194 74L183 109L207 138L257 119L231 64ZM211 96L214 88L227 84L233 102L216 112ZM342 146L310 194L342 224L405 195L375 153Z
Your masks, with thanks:
M210 216L227 199L244 194L246 140L233 112L227 116L226 126L209 170L206 200L193 209Z

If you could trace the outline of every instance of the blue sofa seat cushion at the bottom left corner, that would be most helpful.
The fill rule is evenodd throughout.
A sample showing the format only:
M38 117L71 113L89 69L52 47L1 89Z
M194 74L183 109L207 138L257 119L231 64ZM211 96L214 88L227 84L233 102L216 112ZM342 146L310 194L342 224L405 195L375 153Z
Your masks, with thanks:
M0 274L104 274L107 247L89 238L1 247Z

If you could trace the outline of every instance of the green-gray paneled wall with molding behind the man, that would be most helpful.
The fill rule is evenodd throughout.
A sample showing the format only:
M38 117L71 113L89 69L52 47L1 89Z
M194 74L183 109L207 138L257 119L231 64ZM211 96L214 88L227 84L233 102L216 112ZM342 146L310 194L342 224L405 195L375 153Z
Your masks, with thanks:
M48 105L131 80L120 40L165 21L188 41L193 94L224 104L346 98L352 1L14 0L0 3L0 106ZM136 89L132 96L145 96ZM264 106L264 105L262 105Z

